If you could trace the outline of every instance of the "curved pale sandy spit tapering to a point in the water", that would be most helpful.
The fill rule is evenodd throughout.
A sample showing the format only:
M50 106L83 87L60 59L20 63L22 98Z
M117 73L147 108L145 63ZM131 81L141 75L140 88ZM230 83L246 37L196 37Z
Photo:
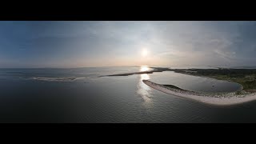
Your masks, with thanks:
M230 93L201 93L190 90L182 90L176 86L167 87L158 83L150 82L149 80L142 80L147 86L155 90L162 91L166 94L174 96L188 98L197 102L203 102L215 106L231 106L235 104L241 104L244 102L251 102L256 100L256 93L236 94L236 92ZM176 87L176 88L175 88Z

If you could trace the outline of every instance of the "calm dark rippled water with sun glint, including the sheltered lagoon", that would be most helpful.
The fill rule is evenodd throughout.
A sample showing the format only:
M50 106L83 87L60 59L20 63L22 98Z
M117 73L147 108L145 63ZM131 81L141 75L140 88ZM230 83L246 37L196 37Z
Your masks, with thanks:
M210 106L153 90L142 79L208 92L238 90L236 83L174 72L98 78L143 70L1 69L0 122L256 122L256 102Z

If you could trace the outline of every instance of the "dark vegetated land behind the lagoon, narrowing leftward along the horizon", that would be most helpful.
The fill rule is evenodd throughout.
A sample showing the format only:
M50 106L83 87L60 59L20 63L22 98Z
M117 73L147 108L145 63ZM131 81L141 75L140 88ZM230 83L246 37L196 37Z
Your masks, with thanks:
M248 66L249 67L249 66ZM128 76L132 74L152 74L154 72L162 71L174 71L180 74L189 74L199 77L215 78L219 80L225 80L229 82L237 82L243 86L243 90L246 92L256 92L256 68L254 69L241 69L241 68L213 68L213 69L171 69L167 67L150 67L153 70L146 70L134 73L124 74L111 74L102 75L105 76Z

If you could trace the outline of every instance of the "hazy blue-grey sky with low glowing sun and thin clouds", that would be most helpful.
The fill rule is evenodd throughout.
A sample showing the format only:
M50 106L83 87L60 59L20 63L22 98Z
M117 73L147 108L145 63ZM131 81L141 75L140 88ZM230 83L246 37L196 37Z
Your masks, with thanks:
M256 22L0 22L0 68L255 66Z

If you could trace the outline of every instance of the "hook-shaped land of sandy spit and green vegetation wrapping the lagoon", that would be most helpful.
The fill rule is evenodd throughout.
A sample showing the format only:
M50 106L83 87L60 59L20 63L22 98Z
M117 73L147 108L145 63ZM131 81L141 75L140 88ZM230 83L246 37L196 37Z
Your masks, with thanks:
M231 93L205 93L183 90L173 85L161 85L148 80L143 80L143 82L147 86L166 94L172 94L182 98L190 98L199 102L218 106L229 106L256 100L256 69L169 69L168 71L237 82L241 85L241 89Z

